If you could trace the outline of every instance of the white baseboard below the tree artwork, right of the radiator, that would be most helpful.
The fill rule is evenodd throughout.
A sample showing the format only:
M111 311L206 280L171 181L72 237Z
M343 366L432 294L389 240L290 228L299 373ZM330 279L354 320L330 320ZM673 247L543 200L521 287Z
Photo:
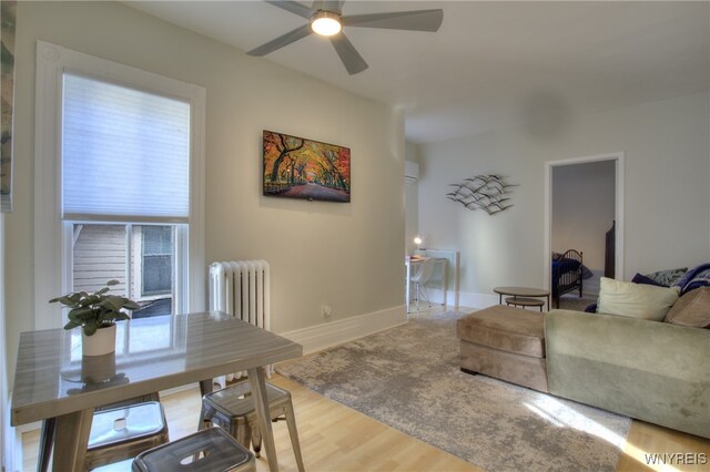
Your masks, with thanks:
M303 353L307 355L406 322L405 306L400 305L372 314L280 332L278 336L300 343L303 346Z

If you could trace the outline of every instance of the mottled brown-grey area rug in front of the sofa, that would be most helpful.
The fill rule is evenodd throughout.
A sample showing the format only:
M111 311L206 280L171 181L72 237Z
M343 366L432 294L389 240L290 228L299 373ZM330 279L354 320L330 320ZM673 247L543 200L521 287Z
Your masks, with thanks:
M276 370L484 470L616 470L630 420L460 372L462 316L414 316Z

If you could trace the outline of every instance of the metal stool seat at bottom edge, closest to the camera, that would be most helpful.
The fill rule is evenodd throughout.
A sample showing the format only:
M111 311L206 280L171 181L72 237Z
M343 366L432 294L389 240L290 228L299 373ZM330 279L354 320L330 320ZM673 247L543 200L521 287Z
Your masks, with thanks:
M134 472L255 471L254 455L224 430L210 428L139 454Z

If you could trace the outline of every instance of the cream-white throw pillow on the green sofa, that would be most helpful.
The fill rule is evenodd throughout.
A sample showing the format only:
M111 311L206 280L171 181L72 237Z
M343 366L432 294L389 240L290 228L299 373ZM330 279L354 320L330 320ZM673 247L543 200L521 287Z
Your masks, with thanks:
M656 287L601 277L597 311L662 321L677 299L678 287Z

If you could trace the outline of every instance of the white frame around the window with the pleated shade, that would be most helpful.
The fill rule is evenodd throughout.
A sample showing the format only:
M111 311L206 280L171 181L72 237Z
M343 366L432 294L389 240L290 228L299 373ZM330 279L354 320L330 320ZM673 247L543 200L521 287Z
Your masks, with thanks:
M181 277L180 280L175 280L175 284L186 287L184 297L186 305L181 307L180 311L204 310L205 89L61 45L38 41L34 123L34 329L62 326L61 308L48 301L60 294L68 293L71 284L71 244L67 242L71 242L72 235L71 230L67 230L69 225L61 219L61 120L64 72L95 78L190 103L190 216L186 237L176 238L179 239L176 252L183 257L178 257L175 260L176 274Z

